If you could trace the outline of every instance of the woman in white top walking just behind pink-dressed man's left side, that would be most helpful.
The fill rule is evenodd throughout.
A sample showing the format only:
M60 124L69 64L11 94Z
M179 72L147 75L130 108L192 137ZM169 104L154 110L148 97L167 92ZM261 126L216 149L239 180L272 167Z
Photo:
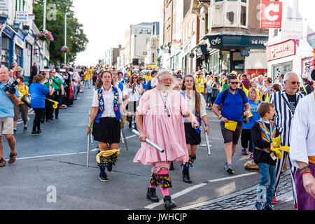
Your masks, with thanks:
M132 128L132 118L136 112L137 107L139 106L139 100L141 98L144 88L142 84L138 83L138 76L136 73L132 74L130 82L127 83L128 93L128 105L127 105L127 121L129 121L129 128ZM135 127L137 129L137 127Z

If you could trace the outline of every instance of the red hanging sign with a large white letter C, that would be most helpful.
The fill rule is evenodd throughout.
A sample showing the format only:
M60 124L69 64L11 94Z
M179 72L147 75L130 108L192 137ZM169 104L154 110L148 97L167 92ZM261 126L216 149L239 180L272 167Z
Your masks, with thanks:
M260 28L281 29L281 20L281 1L261 1Z

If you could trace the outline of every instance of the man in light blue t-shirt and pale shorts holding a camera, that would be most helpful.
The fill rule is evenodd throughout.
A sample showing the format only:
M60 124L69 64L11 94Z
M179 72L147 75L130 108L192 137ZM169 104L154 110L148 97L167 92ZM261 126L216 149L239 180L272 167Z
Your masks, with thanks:
M0 167L6 165L6 160L3 157L2 134L6 135L8 145L10 146L10 159L8 163L15 162L15 138L13 137L13 117L14 104L18 105L20 102L20 93L18 87L15 86L15 94L10 94L5 91L5 88L12 83L8 82L8 69L6 67L0 68Z

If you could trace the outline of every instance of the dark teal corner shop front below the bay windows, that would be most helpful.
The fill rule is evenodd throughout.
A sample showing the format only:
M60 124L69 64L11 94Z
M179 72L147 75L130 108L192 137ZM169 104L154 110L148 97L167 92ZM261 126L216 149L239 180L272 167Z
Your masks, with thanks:
M209 67L216 75L225 71L245 73L245 57L251 49L265 49L268 36L246 35L207 35L209 48L213 50L209 57ZM262 68L266 69L266 68Z

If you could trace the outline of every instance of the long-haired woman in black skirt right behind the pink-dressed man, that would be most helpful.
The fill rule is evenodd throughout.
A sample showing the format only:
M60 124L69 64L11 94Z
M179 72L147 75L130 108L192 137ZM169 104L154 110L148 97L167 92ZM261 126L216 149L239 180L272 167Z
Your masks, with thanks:
M200 92L196 91L195 79L191 75L183 78L182 92L187 106L190 111L195 114L198 122L201 125L201 120L204 121L204 132L209 132L209 125L207 119L206 102ZM189 176L189 167L193 167L193 162L196 160L197 145L201 142L200 128L194 129L191 123L185 119L185 136L186 146L188 148L189 161L183 165L183 181L192 183Z

